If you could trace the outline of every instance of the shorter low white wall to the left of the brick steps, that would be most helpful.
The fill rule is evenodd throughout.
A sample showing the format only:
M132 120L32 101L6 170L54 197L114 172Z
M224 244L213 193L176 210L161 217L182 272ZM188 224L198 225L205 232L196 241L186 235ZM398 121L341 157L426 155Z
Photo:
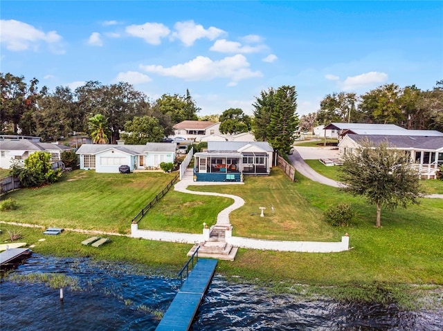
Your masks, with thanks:
M204 241L204 234L186 234L182 232L140 230L138 229L138 224L131 225L131 237L182 244L197 244Z

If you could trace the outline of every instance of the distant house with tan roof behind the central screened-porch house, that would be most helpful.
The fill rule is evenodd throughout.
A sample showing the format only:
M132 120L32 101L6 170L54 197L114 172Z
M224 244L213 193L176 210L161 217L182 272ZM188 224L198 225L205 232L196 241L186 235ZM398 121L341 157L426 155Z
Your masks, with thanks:
M174 136L183 137L186 140L199 142L201 138L208 135L220 135L220 122L207 121L183 121L173 126ZM174 136L170 138L174 138Z

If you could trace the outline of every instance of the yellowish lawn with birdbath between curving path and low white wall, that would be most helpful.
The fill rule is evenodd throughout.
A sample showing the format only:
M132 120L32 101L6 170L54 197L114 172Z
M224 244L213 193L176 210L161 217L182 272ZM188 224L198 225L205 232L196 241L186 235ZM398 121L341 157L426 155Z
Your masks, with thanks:
M241 196L244 207L230 214L233 235L269 240L340 240L344 232L323 221L321 212L309 205L280 169L271 176L246 176L245 185L189 187ZM273 205L274 212L271 211ZM266 207L264 217L260 208Z

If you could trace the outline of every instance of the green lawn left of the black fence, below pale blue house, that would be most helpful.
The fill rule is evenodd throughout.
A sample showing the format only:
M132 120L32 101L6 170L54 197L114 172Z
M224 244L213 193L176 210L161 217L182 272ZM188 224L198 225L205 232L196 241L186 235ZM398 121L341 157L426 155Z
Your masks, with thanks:
M96 173L76 170L53 185L19 189L4 198L19 209L3 212L8 222L127 234L131 220L175 173Z

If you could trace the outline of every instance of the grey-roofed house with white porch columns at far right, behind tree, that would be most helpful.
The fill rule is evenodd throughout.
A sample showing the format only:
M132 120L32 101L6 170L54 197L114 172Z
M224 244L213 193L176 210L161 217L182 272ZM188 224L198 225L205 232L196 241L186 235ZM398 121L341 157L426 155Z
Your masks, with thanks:
M370 141L375 146L386 142L388 148L406 151L420 175L427 178L435 178L435 171L443 164L443 133L439 131L404 129L403 135L347 133L338 143L338 149L341 155L346 155L365 141Z

